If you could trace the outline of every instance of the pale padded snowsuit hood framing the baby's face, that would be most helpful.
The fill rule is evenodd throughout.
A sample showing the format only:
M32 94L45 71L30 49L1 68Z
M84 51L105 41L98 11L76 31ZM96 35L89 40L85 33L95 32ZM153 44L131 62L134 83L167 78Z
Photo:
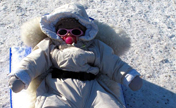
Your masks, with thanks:
M98 27L92 19L89 19L84 7L80 4L66 4L57 9L48 15L44 15L40 21L40 27L44 34L48 37L62 41L62 39L56 34L55 25L62 18L75 18L83 26L87 28L85 35L81 36L79 40L81 41L90 41L95 38Z

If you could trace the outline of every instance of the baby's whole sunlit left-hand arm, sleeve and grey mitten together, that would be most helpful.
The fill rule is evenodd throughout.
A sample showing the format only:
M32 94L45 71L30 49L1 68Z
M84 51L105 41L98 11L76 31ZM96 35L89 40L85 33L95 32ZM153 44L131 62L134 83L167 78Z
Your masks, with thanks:
M44 44L49 45L49 41L44 42ZM18 67L10 74L9 87L12 88L14 92L26 89L31 80L43 72L46 72L51 67L52 63L49 52L43 50L40 46L41 44L36 46L34 51L25 57Z

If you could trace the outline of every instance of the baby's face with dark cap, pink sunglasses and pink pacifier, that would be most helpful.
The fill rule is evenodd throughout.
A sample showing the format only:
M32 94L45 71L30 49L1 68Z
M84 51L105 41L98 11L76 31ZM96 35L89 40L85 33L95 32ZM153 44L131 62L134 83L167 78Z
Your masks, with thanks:
M86 28L74 18L67 18L56 24L56 32L66 44L77 43L80 36L84 36Z

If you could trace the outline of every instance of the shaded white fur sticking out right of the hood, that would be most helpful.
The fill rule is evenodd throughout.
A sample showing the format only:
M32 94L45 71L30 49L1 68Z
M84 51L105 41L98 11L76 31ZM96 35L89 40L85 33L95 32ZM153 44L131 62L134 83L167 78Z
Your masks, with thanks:
M124 30L97 20L95 23L99 28L95 38L110 46L116 55L121 56L130 48L130 37Z

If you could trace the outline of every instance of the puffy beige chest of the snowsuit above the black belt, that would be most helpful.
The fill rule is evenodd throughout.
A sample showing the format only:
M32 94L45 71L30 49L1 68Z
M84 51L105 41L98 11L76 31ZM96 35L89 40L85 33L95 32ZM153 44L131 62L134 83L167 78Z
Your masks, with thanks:
M63 50L54 49L51 56L54 65L60 69L93 74L99 72L99 68L92 66L95 61L95 55L91 51L68 47Z

